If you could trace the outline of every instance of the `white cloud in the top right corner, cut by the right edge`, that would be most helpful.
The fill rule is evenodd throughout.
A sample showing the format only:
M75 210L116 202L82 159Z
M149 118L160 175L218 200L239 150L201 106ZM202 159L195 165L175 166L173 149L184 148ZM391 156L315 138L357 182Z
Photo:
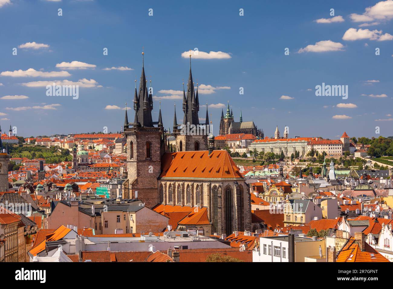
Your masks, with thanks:
M393 18L393 0L380 1L374 6L367 7L362 15L350 15L353 22L369 22L373 20L390 20Z

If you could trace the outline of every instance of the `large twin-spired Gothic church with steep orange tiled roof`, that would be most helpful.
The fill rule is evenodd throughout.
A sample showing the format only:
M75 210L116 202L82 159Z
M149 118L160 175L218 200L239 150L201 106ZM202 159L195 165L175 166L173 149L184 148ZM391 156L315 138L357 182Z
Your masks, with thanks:
M145 82L142 62L139 92L135 88L134 122L128 123L127 110L125 112L127 180L123 183L124 198L138 198L145 206L166 216L171 212L186 212L178 224L202 228L206 236L213 232L231 234L234 230L250 230L249 187L229 153L215 150L211 133L209 136L182 134L176 109L173 123L176 152L169 151L161 109L158 122L153 122L153 102ZM183 125L201 125L198 107L198 91L194 94L190 64L187 95L185 91L183 94ZM187 212L192 212L192 217L185 217Z

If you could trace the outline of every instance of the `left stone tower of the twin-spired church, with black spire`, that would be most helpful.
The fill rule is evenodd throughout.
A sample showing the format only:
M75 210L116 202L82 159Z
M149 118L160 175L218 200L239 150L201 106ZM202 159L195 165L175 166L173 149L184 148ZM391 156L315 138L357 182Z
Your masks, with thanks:
M124 124L128 179L123 183L123 198L138 198L145 206L152 208L158 204L157 179L161 173L161 156L165 152L165 140L161 109L159 121L152 121L153 99L151 91L147 88L144 54L142 52L139 91L137 92L135 87L134 93L134 122ZM128 120L127 114L125 120Z

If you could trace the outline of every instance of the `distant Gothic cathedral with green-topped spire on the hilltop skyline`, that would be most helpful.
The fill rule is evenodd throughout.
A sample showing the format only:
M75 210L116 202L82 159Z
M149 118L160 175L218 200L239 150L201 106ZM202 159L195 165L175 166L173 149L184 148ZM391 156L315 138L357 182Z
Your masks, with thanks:
M235 122L233 119L233 112L228 107L224 116L224 110L221 111L220 119L220 135L245 133L252 134L257 138L264 138L263 131L258 129L253 121L243 121L242 112L240 111L240 121Z

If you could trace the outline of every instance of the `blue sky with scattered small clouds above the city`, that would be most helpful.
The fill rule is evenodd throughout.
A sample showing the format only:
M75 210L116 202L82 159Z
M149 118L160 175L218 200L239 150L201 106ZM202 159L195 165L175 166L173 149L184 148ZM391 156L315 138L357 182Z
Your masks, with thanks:
M274 135L276 125L282 132L287 125L291 137L336 138L343 131L351 137L392 136L392 23L392 0L0 0L0 123L8 130L11 122L21 136L119 131L125 101L132 105L144 46L145 72L156 96L153 120L161 98L165 128L172 130L175 101L182 119L176 90L189 71L182 53L198 48L200 55L208 53L192 57L194 81L205 85L199 117L205 117L207 101L216 135L229 100L235 121L241 109L243 120L253 120L265 136ZM209 52L222 52L221 58ZM72 61L93 68L71 69ZM112 67L132 70L105 70ZM46 96L46 87L37 83L80 79L90 87L80 87L78 99ZM348 85L348 99L316 96L322 83Z

